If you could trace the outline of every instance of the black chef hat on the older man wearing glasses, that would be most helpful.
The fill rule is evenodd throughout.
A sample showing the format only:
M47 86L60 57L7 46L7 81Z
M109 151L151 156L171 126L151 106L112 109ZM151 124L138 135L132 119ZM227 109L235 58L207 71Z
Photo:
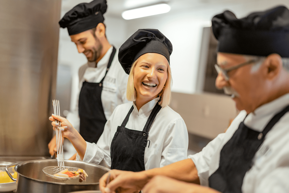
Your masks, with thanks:
M237 19L225 11L212 19L218 52L289 57L289 10L278 6Z

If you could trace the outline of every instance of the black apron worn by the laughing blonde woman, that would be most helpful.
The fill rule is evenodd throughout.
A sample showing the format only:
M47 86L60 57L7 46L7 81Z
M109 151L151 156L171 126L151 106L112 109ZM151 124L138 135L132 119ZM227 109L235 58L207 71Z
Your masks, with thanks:
M137 131L125 128L129 115L134 109L134 106L131 107L121 126L117 127L111 142L111 169L132 172L140 172L145 170L144 150L147 146L149 129L151 128L151 124L161 108L162 107L157 102L149 115L149 119L147 120L144 129L142 131Z

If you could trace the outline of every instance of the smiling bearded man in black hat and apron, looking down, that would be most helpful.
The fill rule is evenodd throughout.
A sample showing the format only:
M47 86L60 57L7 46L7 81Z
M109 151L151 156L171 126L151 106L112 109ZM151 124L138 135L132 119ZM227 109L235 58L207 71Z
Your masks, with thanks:
M88 60L79 68L78 111L69 113L67 119L74 125L80 125L80 135L91 143L97 143L116 106L128 102L128 75L118 62L118 51L110 45L105 35L103 14L106 9L106 0L80 3L59 21L60 27L67 27L78 52L85 54ZM56 150L55 136L48 147L53 155Z

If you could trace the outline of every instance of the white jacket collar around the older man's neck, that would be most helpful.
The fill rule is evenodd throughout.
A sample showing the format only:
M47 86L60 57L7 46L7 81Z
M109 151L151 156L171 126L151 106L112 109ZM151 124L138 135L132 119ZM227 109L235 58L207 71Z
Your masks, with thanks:
M255 109L254 112L249 113L244 120L244 124L251 129L262 132L268 122L275 114L284 109L289 104L289 93L281 97L263 104Z

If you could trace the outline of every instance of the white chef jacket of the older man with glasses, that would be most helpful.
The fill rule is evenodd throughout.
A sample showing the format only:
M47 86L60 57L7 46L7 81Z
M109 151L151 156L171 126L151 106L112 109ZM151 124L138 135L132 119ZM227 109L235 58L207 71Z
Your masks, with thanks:
M226 133L219 134L203 150L189 155L198 170L201 185L208 186L208 179L219 167L220 152L237 130L240 122L262 132L275 114L289 104L289 93L258 107L246 117L241 111ZM246 117L246 118L245 118ZM243 193L289 192L289 112L273 126L253 158L252 168L246 172Z

